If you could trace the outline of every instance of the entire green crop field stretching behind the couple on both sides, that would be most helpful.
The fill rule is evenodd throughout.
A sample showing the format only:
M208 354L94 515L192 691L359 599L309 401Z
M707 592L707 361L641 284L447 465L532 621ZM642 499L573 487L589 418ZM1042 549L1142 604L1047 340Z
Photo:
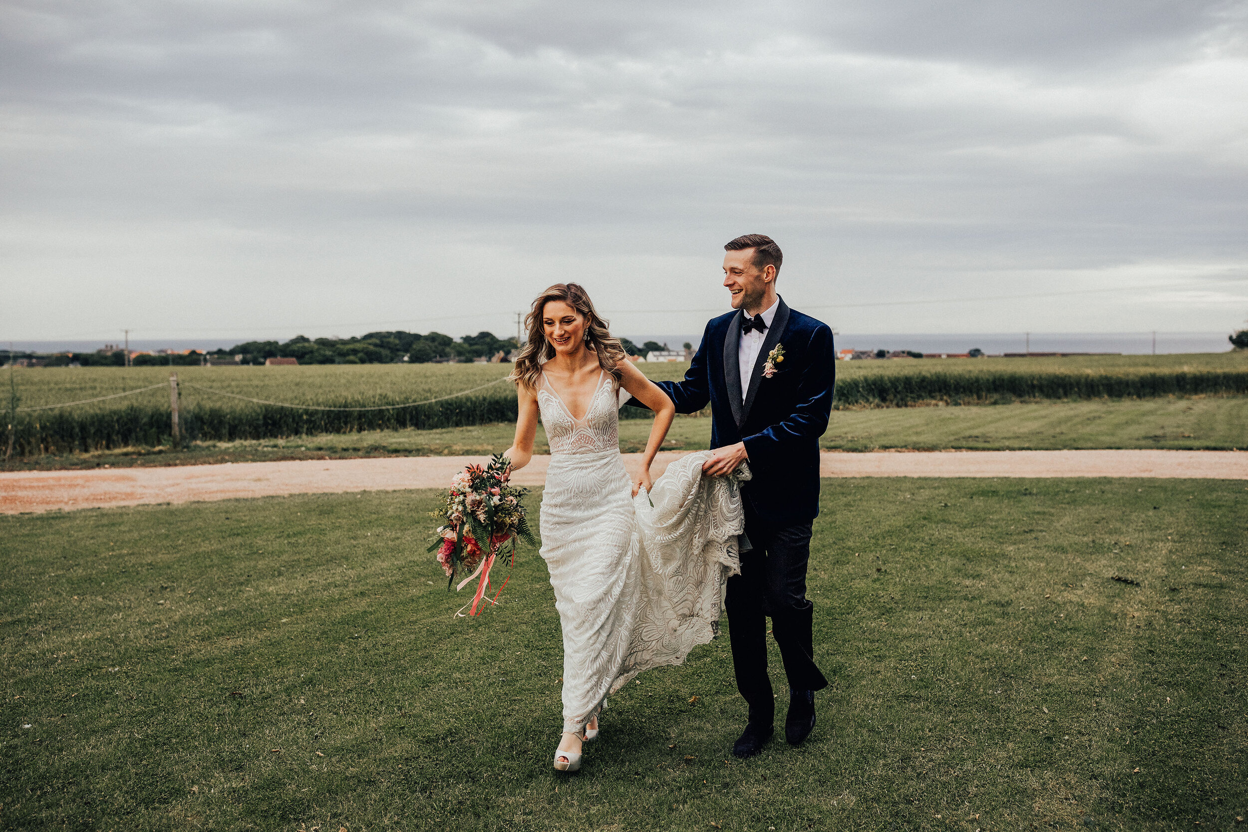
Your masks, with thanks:
M688 365L640 366L654 379L678 379ZM1248 352L856 361L841 362L837 371L836 407L841 410L931 402L1248 395ZM502 381L508 372L508 365L477 364L178 367L180 426L186 440L220 442L503 422L515 417L514 392ZM19 456L168 445L168 389L163 384L167 369L22 369L10 375L22 409L156 385L135 395L74 407L19 411L12 428ZM483 385L488 386L474 390ZM462 391L470 392L427 401ZM358 410L408 402L422 404ZM645 415L625 409L624 416Z

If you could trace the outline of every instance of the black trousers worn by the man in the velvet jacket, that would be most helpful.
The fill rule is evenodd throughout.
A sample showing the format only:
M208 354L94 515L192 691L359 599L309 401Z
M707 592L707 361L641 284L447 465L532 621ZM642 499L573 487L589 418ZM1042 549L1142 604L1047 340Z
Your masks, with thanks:
M768 616L794 690L817 691L827 680L815 666L815 606L806 598L811 523L768 522L745 501L745 535L753 550L741 555L741 573L728 578L729 637L736 690L750 706L750 721L770 723L775 698L768 677Z

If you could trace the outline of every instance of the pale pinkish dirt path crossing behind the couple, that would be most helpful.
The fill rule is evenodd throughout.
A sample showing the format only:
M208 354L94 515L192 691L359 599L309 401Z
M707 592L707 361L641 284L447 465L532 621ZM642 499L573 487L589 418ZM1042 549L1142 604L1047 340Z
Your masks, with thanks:
M685 451L659 455L653 473ZM640 455L625 453L631 470ZM0 473L0 513L142 503L230 500L290 493L441 488L474 456L242 462L165 468L16 471ZM550 457L515 475L545 482ZM1196 477L1248 480L1248 452L1236 451L960 451L824 452L825 477Z

